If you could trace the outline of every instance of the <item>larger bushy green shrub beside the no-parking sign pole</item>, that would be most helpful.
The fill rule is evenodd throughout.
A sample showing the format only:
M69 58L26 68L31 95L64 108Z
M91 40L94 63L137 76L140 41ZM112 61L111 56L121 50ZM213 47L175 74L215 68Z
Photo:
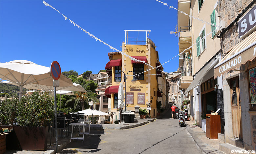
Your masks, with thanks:
M17 122L22 126L46 126L54 118L54 101L48 92L23 96L18 104Z

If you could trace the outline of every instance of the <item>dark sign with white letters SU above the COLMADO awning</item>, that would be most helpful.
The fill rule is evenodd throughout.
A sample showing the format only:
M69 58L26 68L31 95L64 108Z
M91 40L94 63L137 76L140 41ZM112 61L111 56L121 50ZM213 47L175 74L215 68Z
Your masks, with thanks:
M238 22L238 33L241 38L249 30L256 26L256 6L254 6L248 13L245 14Z

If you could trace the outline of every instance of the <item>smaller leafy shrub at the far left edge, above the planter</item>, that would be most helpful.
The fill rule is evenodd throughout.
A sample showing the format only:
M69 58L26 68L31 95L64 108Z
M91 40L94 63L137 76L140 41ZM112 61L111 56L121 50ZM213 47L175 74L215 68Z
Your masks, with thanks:
M14 125L16 123L17 98L5 99L0 102L0 125Z

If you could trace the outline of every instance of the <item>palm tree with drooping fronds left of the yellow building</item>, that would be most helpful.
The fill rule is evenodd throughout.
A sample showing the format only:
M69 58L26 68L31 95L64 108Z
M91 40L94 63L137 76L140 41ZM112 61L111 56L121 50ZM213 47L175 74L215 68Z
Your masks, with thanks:
M75 81L76 84L80 84L84 89L89 86L89 82L86 83L84 79L78 78ZM71 97L65 105L67 105L71 101L75 101L74 108L77 107L78 104L81 104L82 110L85 109L85 103L86 103L86 109L88 109L89 102L93 101L94 103L98 103L99 100L97 99L96 95L94 92L92 92L90 89L88 89L86 92L74 92L75 97Z

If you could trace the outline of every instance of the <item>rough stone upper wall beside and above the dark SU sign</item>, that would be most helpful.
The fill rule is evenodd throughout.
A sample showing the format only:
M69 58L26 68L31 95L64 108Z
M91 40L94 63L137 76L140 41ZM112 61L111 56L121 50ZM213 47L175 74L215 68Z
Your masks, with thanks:
M239 13L241 13L252 2L253 0L221 0L219 5L220 20L225 21L225 27L228 27L237 18ZM253 6L255 6L255 4ZM247 10L242 16L244 16L249 10ZM242 41L242 38L239 39L238 37L237 22L231 25L220 38L224 57L226 53Z

